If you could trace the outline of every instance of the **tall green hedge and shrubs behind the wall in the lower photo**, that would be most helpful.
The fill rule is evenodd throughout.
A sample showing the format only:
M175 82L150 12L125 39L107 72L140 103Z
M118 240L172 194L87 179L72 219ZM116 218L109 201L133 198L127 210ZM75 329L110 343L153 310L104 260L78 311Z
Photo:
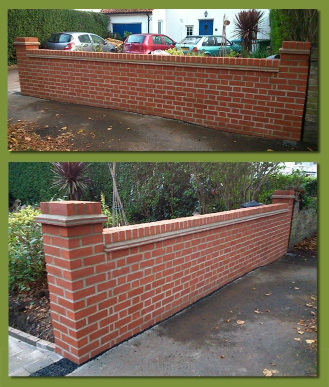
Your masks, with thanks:
M135 224L191 216L194 211L202 214L239 208L249 200L271 203L276 189L295 189L304 195L302 205L311 205L307 198L317 196L316 179L297 173L282 175L279 170L278 163L271 162L120 162L116 165L116 177L127 220ZM84 199L102 198L103 213L106 210L110 214L112 178L107 163L90 163L87 174L92 184ZM49 176L50 163L10 163L12 199L20 199L23 204L50 200L56 192L51 189ZM30 186L34 183L42 189L42 195Z

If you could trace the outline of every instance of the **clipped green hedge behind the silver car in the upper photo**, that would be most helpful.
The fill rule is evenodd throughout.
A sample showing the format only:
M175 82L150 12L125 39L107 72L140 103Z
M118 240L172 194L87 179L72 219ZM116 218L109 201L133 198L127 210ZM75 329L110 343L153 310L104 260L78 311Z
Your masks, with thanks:
M93 32L107 36L107 17L74 9L8 9L8 64L16 63L14 38L37 37L44 43L60 31Z

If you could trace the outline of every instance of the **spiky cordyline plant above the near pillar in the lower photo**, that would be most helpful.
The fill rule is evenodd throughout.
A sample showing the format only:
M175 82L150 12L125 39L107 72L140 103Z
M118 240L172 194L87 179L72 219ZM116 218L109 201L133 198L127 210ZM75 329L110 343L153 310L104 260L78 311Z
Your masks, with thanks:
M64 191L69 200L80 200L90 185L86 175L89 164L83 162L56 162L52 164L52 186Z

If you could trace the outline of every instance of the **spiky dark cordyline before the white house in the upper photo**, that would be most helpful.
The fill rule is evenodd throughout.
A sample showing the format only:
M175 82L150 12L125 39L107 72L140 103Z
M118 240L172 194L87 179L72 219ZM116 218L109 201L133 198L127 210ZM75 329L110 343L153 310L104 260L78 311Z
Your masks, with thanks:
M242 40L242 48L247 54L257 43L257 33L260 32L259 25L264 20L264 11L258 9L248 9L240 11L235 15L233 23L235 25L234 37Z

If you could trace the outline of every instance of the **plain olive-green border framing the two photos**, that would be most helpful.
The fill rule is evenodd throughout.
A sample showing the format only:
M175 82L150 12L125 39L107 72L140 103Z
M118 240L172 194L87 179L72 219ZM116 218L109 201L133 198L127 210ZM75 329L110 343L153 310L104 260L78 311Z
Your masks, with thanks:
M326 251L326 235L328 234L329 222L325 214L329 214L328 211L328 199L326 193L329 191L329 179L327 165L329 163L329 156L327 154L327 146L329 146L329 130L327 128L325 120L326 106L329 104L328 96L328 77L329 72L328 62L329 54L327 48L327 36L325 34L326 21L329 14L329 4L325 4L325 1L316 1L310 3L305 0L302 1L271 1L270 4L266 4L269 8L271 5L273 8L318 8L320 13L320 139L319 139L319 152L35 152L35 153L10 153L7 151L7 139L6 139L6 117L7 117L7 104L6 104L6 25L7 25L7 8L47 8L44 1L32 0L28 3L26 1L14 0L8 3L8 6L1 6L0 13L0 31L3 37L2 55L0 57L0 65L3 71L0 73L1 87L1 123L3 124L2 131L0 132L0 160L1 172L2 172L2 184L3 189L0 192L1 197L1 232L0 232L0 248L1 248L1 281L0 281L0 302L3 308L3 316L7 316L7 190L8 190L8 169L7 163L11 161L315 161L318 163L318 176L319 176L319 345L318 345L318 377L317 378L97 378L97 383L100 386L105 386L108 383L114 383L118 386L128 386L133 384L134 386L153 386L156 383L158 386L166 386L171 383L176 386L188 385L193 387L200 385L201 383L208 386L217 386L219 383L225 383L226 386L261 386L263 383L278 385L288 385L309 387L313 386L329 386L329 330L326 329L326 321L329 320L329 308L328 298L325 294L329 291L329 281L327 279L327 273L329 272L328 254ZM58 8L66 8L67 2L58 0L56 3ZM90 1L82 0L78 6L84 6L89 9ZM104 7L103 2L97 1L96 4L100 7ZM126 8L136 7L134 1L128 0L124 3ZM166 2L166 7L172 6L177 8L180 5L182 8L199 8L200 4L196 1L183 0L179 4L176 1L169 0ZM207 3L206 8L216 8L219 4L216 1L211 0ZM236 8L264 8L264 4L261 1L253 1L246 3L239 0L236 4ZM246 6L247 5L247 6ZM74 6L74 4L73 4ZM143 1L139 2L139 8L151 8L154 6L154 2ZM205 8L205 9L206 9ZM327 67L327 68L326 68ZM327 178L326 178L327 177ZM327 233L326 233L327 231ZM7 318L0 321L0 385L2 386L43 386L47 383L49 386L55 386L61 383L68 386L71 383L78 382L81 386L87 386L90 381L85 378L79 378L79 381L72 379L60 378L8 378L8 342L7 342ZM287 344L288 345L288 344ZM261 370L260 370L261 375Z

